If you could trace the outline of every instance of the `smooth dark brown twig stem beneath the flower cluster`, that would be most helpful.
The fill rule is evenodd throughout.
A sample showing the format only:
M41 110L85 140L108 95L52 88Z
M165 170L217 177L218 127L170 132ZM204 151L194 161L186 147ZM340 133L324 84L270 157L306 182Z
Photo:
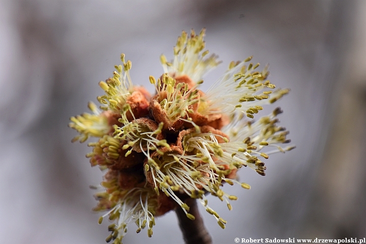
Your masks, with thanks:
M189 213L196 218L195 220L188 219L185 212L180 207L175 210L179 221L179 227L183 233L186 244L211 244L212 239L204 227L203 220L198 211L196 199L188 198L186 204L190 207Z

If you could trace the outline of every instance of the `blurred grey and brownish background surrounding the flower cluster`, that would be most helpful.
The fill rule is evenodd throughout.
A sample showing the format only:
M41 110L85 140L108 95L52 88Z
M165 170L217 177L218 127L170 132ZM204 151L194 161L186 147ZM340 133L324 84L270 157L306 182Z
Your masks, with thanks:
M214 243L234 238L366 236L366 1L6 1L0 0L0 243L105 243L86 143L71 143L69 117L104 92L119 54L135 84L159 77L182 30L206 27L206 48L223 63L254 55L291 92L280 125L296 149L271 155L266 176L243 168L251 190L229 211L214 197L225 230L200 208ZM183 243L174 212L153 237L131 225L124 243Z

